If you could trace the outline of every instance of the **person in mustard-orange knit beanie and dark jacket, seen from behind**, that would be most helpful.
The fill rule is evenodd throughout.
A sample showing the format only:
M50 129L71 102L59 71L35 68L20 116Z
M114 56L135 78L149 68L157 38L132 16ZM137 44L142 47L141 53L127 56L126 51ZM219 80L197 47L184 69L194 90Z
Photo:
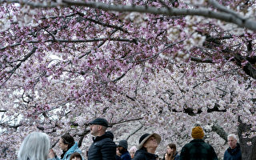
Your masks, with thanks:
M192 141L182 147L180 160L218 160L214 148L204 142L204 132L201 126L195 126L192 129Z

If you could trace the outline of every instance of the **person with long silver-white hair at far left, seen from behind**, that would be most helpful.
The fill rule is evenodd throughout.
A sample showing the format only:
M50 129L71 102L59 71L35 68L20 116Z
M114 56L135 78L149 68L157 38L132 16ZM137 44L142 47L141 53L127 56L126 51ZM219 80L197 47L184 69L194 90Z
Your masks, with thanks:
M26 136L18 150L18 160L46 160L50 150L50 138L41 132Z

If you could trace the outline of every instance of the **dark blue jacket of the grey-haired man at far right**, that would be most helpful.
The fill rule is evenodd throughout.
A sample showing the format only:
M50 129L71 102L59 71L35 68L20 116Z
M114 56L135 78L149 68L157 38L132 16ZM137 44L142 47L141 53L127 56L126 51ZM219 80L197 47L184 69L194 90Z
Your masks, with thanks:
M230 147L225 151L223 160L242 160L242 153L239 143L234 149Z

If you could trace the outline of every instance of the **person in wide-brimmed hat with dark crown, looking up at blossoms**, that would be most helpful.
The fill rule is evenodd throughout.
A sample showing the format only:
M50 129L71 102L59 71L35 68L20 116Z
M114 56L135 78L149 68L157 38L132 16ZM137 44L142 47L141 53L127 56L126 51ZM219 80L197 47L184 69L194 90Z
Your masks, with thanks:
M143 134L138 142L138 150L133 160L156 160L158 158L155 150L161 142L161 136L159 134Z

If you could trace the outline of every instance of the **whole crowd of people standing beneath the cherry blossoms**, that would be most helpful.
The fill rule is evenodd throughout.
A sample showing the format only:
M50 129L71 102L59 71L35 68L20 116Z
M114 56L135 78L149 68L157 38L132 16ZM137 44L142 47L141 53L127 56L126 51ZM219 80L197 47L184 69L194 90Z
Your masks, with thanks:
M138 140L138 146L130 147L128 142L121 140L118 145L113 141L114 134L106 131L109 123L105 118L96 118L90 123L90 134L93 142L86 154L88 160L218 160L214 148L204 142L204 131L201 126L192 129L192 141L182 147L178 154L174 143L166 146L166 154L162 157L156 154L162 141L159 134L143 134ZM242 160L242 153L235 134L228 136L229 148L225 151L223 160ZM58 156L50 148L50 138L41 132L28 134L18 151L18 160L84 160L78 143L70 134L63 134L58 141L62 154Z

